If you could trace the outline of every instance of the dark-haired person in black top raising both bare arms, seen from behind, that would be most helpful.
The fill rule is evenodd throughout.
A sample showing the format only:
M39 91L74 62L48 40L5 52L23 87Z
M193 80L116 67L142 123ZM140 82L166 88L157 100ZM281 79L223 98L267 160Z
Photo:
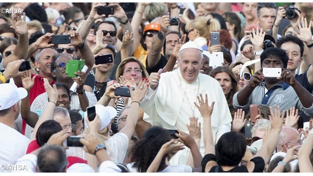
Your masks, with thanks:
M205 101L201 94L198 96L198 100L199 105L196 104L196 106L201 112L205 127L203 129L205 155L201 161L202 172L263 172L265 164L268 163L276 148L279 133L283 127L284 113L280 116L279 107L274 106L274 111L270 109L272 131L268 140L246 165L238 166L247 149L244 136L237 132L226 132L214 145L211 127L214 102L208 106L207 94L205 94Z

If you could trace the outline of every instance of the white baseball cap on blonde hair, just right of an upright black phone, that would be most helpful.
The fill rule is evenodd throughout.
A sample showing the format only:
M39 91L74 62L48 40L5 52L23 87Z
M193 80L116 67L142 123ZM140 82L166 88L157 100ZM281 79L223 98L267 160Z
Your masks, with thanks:
M111 106L103 106L103 105L94 105L96 108L96 113L99 115L102 125L99 131L103 130L104 128L106 128L112 118L114 118L117 114L115 108L111 107ZM86 122L86 118L87 117L87 113L85 113L85 127L88 127L88 124Z

